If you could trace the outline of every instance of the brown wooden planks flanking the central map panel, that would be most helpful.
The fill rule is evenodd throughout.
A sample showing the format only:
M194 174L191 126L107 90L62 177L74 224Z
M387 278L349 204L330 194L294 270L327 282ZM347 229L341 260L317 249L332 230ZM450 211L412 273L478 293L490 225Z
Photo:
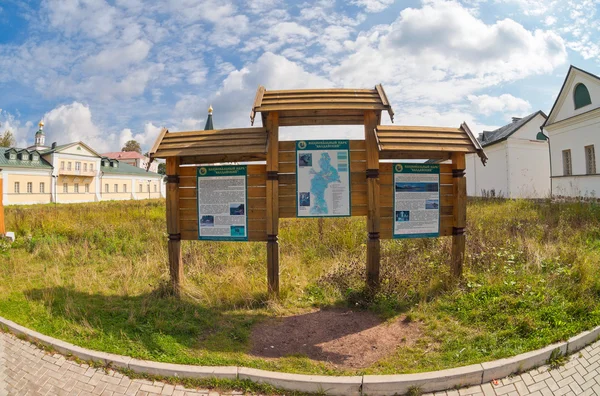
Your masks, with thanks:
M350 140L351 215L367 215L364 140ZM279 217L296 217L296 142L279 142Z

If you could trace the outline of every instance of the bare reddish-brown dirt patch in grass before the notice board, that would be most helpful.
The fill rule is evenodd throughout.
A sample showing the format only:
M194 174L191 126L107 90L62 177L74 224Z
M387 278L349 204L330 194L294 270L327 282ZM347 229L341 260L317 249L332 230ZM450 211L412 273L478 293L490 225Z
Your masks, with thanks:
M419 324L404 316L384 323L370 312L318 310L263 322L250 339L255 356L305 355L340 368L364 368L420 336Z

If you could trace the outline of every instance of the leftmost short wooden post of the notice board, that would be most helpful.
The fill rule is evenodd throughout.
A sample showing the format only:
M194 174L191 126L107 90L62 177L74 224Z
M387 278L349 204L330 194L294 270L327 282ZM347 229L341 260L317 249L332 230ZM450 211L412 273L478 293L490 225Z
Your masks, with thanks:
M180 158L167 158L167 233L169 234L169 273L173 293L179 296L183 281L181 226L179 222Z

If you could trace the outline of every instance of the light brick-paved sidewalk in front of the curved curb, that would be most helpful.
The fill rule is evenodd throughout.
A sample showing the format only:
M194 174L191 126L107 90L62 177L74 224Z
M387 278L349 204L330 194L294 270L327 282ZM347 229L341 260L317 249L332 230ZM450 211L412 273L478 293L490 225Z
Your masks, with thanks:
M106 395L106 396L225 396L202 389L185 389L162 382L131 380L117 372L77 364L50 355L11 334L0 333L0 396ZM556 370L540 367L497 383L436 392L427 396L600 396L600 342L571 356ZM424 395L425 396L425 395Z

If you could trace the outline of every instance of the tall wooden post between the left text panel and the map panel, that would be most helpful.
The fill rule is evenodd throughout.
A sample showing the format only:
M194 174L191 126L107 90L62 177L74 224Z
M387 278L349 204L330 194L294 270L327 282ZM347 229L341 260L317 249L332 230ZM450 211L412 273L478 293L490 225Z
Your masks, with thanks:
M267 282L279 294L279 113L267 116Z

